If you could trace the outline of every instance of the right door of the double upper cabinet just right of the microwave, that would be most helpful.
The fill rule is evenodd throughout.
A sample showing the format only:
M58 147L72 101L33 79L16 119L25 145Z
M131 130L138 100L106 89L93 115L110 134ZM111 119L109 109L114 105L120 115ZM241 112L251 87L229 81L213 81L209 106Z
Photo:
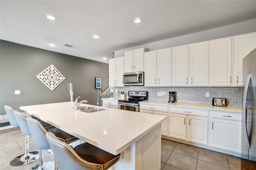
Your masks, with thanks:
M171 48L158 50L156 58L156 85L171 86Z

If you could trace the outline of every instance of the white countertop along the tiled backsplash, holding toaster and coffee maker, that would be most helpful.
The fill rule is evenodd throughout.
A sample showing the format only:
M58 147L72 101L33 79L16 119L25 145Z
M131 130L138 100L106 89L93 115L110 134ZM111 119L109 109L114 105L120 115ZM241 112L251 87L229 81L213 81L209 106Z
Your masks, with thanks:
M212 106L209 104L201 104L201 103L168 103L168 101L141 101L141 104L148 104L148 105L162 105L162 106L171 106L171 107L178 107L178 108L190 108L190 109L207 109L212 111L227 111L227 112L238 112L242 113L242 106L227 106L227 107L217 107Z

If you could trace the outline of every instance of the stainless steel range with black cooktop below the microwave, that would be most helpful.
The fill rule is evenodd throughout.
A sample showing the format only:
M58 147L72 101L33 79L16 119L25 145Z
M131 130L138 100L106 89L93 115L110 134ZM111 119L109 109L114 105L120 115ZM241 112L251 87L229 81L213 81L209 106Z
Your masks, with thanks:
M148 100L148 91L128 91L128 99L118 100L118 109L139 112L139 102L145 100Z

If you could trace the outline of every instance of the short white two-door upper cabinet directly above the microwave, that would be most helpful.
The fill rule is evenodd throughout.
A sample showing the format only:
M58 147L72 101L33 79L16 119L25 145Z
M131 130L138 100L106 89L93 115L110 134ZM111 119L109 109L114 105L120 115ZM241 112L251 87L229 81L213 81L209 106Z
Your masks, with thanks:
M144 48L124 52L124 73L144 71Z

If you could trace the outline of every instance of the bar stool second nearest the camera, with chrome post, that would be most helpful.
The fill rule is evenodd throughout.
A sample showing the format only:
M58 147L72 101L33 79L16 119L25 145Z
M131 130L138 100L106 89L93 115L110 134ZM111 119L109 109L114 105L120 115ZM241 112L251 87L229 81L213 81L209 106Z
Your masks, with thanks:
M49 169L50 167L53 167L54 162L43 162L43 159L42 159L42 150L51 149L49 142L46 139L47 131L38 120L33 119L30 115L27 116L27 123L30 129L30 132L32 134L32 138L34 140L34 144L38 148L38 152L39 152L39 165L32 167L31 170L35 170L35 169L43 170L43 169ZM51 130L51 132L56 134L56 136L58 136L60 140L62 140L63 142L66 142L67 144L70 144L72 142L75 142L76 140L79 140L75 136L72 136L71 134L68 134L58 128ZM57 169L56 162L55 162L55 169Z

